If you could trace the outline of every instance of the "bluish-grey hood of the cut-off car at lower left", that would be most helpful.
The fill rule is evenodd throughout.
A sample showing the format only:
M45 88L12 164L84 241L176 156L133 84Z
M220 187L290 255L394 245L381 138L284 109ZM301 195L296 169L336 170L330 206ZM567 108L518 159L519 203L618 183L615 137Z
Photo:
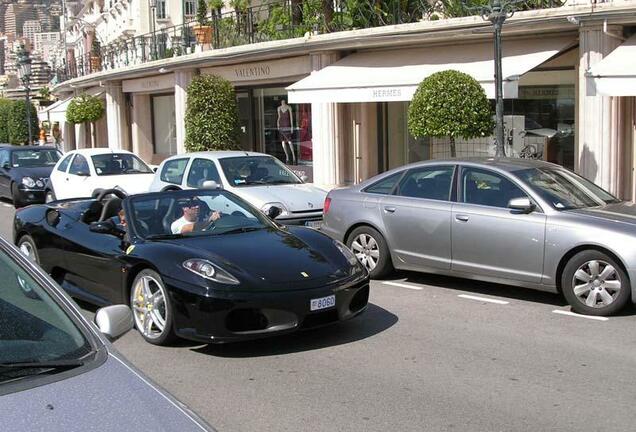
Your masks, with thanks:
M2 430L206 431L195 415L109 356L86 373L0 397Z

